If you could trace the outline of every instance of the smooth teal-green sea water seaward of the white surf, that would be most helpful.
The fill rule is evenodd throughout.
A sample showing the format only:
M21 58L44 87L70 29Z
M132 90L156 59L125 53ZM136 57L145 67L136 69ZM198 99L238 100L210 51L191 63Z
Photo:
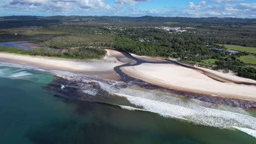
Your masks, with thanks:
M256 143L223 130L46 91L53 75L0 66L1 143Z

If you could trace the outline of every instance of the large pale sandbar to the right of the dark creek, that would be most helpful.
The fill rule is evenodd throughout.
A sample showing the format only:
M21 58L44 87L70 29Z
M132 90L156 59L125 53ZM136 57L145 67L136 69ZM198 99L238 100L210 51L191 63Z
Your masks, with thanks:
M135 67L123 67L121 70L137 79L176 91L256 101L256 86L238 85L232 82L220 82L208 77L199 70L185 68L175 64L143 63L141 65L136 65ZM227 74L218 71L209 70L208 72L217 76L227 77L227 79L255 82L237 76L227 76Z

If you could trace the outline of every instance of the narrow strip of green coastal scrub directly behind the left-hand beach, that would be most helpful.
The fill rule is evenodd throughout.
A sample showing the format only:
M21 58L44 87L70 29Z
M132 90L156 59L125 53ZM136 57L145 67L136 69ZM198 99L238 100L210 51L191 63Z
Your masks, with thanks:
M21 50L14 47L0 46L0 52L17 53L20 55L30 56L61 57L72 59L101 58L106 55L105 50L90 47L81 47L79 49L61 51L49 49Z

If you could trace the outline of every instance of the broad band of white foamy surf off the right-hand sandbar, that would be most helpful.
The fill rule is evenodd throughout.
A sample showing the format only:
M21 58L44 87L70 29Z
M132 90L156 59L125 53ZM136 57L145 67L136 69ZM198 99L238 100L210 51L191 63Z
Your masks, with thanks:
M256 129L256 118L241 113L210 109L196 104L188 104L185 107L181 101L175 104L150 100L131 95L114 93L120 97L125 97L131 104L142 106L143 109L159 113L164 117L185 119L195 124L201 124L221 129L231 129L232 127L249 127Z

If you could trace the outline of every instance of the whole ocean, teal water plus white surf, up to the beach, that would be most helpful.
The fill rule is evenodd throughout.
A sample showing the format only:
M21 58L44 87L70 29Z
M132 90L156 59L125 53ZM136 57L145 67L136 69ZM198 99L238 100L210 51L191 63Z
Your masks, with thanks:
M65 88L61 89L54 75L77 81L62 80ZM256 143L254 110L123 85L98 77L1 63L0 141Z

